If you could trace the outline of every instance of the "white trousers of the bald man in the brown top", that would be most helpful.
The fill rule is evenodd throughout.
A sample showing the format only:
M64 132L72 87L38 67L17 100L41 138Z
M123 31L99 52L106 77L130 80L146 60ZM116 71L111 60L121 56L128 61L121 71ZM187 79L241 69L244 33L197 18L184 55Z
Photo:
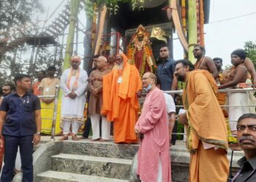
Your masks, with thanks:
M92 139L100 138L99 135L99 114L91 114L91 128L92 128ZM110 122L102 116L102 139L109 141L110 140Z

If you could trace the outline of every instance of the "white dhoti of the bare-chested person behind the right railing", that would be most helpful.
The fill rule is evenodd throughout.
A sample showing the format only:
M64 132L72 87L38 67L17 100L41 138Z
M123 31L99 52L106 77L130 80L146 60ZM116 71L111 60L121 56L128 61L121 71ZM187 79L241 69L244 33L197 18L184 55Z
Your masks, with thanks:
M251 92L230 92L228 96L228 117L230 120L230 130L236 131L236 124L238 118L246 113L255 113L255 106L244 107L248 105L255 105L255 97ZM232 107L242 106L242 107Z

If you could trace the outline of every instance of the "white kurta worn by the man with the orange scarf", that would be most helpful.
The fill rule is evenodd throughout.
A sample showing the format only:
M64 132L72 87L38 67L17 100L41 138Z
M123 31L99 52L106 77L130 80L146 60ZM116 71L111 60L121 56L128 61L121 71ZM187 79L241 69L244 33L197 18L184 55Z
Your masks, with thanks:
M67 81L69 78L69 73L71 68L64 71L61 76L61 89L63 90L62 100L61 100L61 117L64 118L83 118L83 110L86 104L86 87L87 87L87 73L83 69L80 69L80 74L78 78L78 88L75 90L75 99L67 97L67 95L72 92L73 84L75 82L76 76L71 76L69 89L67 87ZM79 119L78 119L79 120Z

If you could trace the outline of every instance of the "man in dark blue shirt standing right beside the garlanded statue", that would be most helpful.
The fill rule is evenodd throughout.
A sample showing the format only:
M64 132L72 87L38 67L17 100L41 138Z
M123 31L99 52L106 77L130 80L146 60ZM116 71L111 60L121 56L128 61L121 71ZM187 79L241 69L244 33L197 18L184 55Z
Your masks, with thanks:
M170 58L170 52L167 45L160 47L160 62L157 65L157 77L160 82L161 90L171 90L175 63L175 60Z

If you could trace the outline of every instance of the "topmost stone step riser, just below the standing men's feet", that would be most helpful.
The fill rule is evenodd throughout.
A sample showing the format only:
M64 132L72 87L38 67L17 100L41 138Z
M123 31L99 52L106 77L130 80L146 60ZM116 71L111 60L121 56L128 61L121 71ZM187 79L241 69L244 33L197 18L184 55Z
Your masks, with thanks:
M138 144L116 144L113 143L113 141L63 141L62 153L97 157L133 159L135 153L138 151L138 147Z

